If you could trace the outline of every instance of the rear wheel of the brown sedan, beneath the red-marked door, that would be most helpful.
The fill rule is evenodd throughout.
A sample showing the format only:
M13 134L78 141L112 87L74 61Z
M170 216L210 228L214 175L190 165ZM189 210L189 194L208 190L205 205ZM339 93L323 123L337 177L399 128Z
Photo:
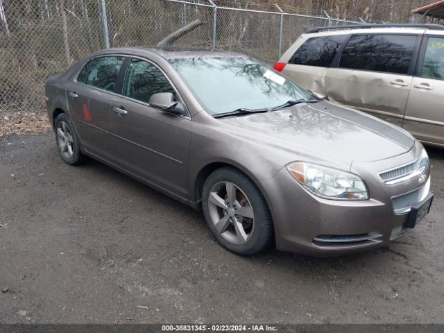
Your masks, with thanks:
M85 160L71 119L65 113L57 116L54 122L56 143L62 160L70 165L78 165Z

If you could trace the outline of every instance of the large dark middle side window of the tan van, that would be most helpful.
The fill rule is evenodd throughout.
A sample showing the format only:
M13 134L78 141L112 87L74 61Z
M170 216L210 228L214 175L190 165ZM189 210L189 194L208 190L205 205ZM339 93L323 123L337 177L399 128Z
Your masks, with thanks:
M416 36L353 35L342 51L339 67L407 74Z

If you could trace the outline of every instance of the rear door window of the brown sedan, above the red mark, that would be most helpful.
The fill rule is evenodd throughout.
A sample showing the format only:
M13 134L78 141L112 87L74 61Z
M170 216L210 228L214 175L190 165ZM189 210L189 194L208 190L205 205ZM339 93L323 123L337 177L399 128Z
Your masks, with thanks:
M114 92L117 74L124 59L124 57L116 56L95 58L89 67L86 84Z

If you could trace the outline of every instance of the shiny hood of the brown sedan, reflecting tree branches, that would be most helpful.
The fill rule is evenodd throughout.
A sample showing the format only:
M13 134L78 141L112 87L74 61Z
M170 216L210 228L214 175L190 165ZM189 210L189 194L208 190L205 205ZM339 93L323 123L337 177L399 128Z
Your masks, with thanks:
M294 153L310 152L323 159L384 160L406 153L415 143L415 139L398 126L327 101L220 120L236 126L240 135L249 135L262 144Z

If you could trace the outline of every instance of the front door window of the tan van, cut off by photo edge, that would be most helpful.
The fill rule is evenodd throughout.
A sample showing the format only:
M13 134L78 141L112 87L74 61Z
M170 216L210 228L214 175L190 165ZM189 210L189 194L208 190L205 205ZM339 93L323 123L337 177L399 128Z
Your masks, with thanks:
M421 76L444 80L444 38L429 37Z

